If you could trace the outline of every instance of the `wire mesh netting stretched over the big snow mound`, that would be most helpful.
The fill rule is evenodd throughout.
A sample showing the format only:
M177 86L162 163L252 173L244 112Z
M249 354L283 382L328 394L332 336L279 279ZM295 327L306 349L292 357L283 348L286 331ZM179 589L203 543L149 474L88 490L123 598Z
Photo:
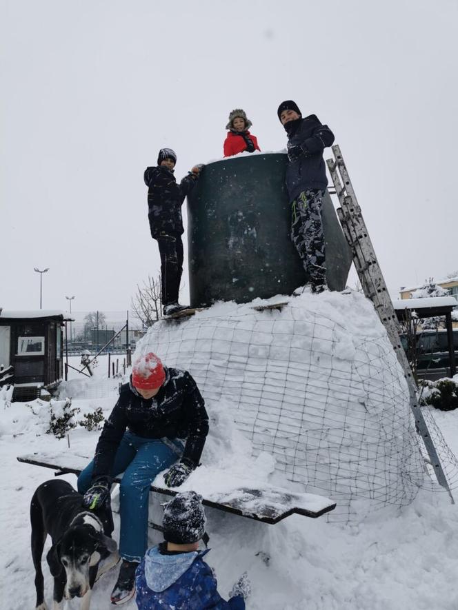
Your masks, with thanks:
M330 520L353 520L437 485L404 374L372 305L355 294L332 298L332 306L297 298L281 311L217 305L157 323L139 351L188 369L210 412L230 403L254 456L267 451L286 480L337 500ZM428 425L454 481L457 460L433 418Z

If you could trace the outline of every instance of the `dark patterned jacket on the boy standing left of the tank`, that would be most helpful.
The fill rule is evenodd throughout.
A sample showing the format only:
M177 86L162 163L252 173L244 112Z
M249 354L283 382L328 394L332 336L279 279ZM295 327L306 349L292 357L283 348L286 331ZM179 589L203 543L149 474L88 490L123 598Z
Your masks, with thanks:
M148 220L151 236L183 234L181 205L197 181L197 174L189 173L177 184L173 171L163 165L147 167L144 175L148 187Z

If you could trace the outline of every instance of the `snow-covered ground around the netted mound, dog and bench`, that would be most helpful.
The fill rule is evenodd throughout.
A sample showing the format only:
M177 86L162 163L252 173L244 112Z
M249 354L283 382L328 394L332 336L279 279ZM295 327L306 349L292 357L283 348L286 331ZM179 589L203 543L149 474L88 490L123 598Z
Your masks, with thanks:
M326 294L310 298L321 299L325 308L336 303ZM62 394L72 396L72 407L81 409L81 414L101 407L107 415L114 405L121 379L107 380L106 369L101 360L94 378L75 376L63 387ZM22 610L34 607L29 502L35 487L53 474L49 469L19 463L16 456L40 451L90 456L99 432L77 427L70 431L69 439L57 440L46 434L48 403L10 403L7 398L0 390L0 610ZM278 484L272 456L251 456L250 440L236 428L227 406L224 401L211 403L212 432L203 467L195 476L209 486L216 485L216 463L223 480L248 472L260 483ZM54 403L54 407L59 405ZM434 417L450 448L458 453L458 413L434 411ZM76 482L74 476L66 479L73 485ZM192 477L185 485L192 488ZM283 485L288 486L288 482L283 481ZM249 609L458 608L458 509L446 493L420 491L407 507L386 507L351 525L290 516L272 526L215 509L206 512L212 549L207 559L217 572L219 591L227 596L233 582L247 571L252 583ZM151 544L159 539L159 534L152 531ZM45 560L48 546L49 542L43 562L46 600L51 607L52 579ZM115 576L110 573L97 583L93 610L110 607ZM68 607L78 608L79 600L69 602ZM135 602L125 607L134 609Z

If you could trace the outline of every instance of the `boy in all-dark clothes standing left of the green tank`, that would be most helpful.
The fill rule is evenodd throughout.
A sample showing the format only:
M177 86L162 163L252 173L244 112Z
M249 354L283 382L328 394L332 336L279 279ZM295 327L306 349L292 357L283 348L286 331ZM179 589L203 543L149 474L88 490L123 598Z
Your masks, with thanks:
M181 205L199 177L203 165L195 165L181 183L173 175L177 155L171 148L161 148L157 167L147 167L148 220L151 236L157 240L161 255L161 292L164 316L186 309L179 305L178 293L183 273L183 220Z

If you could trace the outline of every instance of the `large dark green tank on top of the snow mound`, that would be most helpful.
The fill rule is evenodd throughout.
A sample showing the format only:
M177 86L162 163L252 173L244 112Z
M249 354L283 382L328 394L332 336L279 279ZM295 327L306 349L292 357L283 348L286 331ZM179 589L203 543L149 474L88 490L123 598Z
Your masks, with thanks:
M206 165L188 197L191 307L292 294L308 280L290 241L286 163L272 153ZM351 254L328 192L323 230L328 286L342 290Z

